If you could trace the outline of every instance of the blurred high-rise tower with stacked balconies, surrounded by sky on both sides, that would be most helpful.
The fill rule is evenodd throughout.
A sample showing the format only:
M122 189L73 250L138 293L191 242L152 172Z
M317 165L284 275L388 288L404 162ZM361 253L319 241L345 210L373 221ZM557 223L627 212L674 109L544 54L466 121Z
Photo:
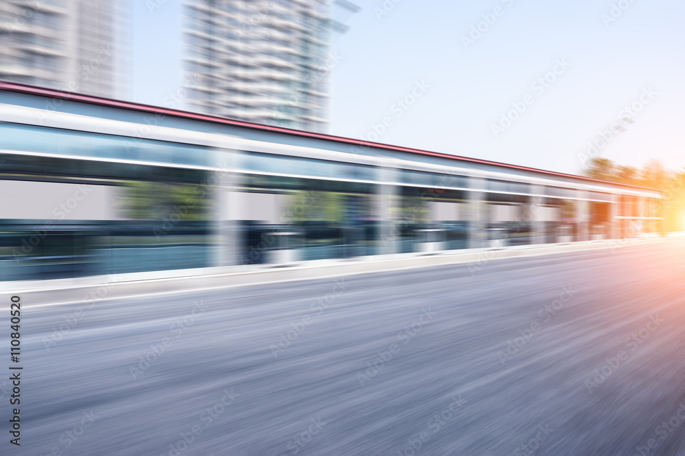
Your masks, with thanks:
M327 129L330 40L345 0L185 0L188 109L292 129Z

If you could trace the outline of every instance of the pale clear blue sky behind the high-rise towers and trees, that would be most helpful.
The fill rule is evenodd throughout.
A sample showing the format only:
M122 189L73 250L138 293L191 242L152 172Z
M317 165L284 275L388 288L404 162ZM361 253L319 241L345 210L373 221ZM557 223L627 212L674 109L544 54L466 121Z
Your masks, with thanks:
M649 103L599 155L685 166L685 3L355 3L362 10L333 46L340 62L331 79L332 134L366 139L387 117L379 142L578 173L588 142L651 88ZM386 11L384 3L395 6ZM612 3L627 8L611 16ZM134 8L133 98L163 105L181 83L179 0L153 12L142 1ZM487 17L491 24L480 24L484 31L465 46L462 37L493 12L495 21ZM562 60L568 67L557 66L553 81L536 83ZM421 81L429 87L412 106L396 104ZM493 124L512 103L525 111L496 137Z

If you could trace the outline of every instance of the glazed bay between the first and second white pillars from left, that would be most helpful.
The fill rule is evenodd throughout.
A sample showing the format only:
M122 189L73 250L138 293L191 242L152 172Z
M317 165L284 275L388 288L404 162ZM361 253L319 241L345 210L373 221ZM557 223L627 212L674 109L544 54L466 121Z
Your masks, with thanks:
M273 201L274 206L271 216L253 216L262 220L239 220L239 264L375 254L379 222L374 185L258 175L247 175L244 183L242 190L251 193L250 198ZM256 198L256 193L262 197ZM236 198L248 195L238 193Z

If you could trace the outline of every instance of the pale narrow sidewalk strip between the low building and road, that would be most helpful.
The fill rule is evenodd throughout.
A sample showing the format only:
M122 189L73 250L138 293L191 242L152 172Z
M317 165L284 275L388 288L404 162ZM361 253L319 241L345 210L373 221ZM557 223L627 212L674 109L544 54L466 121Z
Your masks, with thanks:
M8 295L21 295L22 302L30 306L103 301L124 297L162 295L184 291L204 291L232 286L288 282L348 276L380 271L397 271L415 267L471 263L473 268L501 258L530 257L607 250L608 253L630 245L667 242L669 238L623 239L582 241L568 244L540 244L499 249L468 249L438 254L397 254L338 260L314 260L292 265L256 265L251 267L212 267L146 273L123 273L112 276L90 276L60 280L4 282L0 291ZM4 306L9 299L3 300Z

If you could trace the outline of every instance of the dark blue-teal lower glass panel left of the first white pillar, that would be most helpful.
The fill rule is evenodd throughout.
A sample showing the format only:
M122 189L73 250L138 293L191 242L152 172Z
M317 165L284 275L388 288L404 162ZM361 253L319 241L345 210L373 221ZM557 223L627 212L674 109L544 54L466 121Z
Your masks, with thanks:
M180 221L159 235L158 221L5 221L0 278L42 280L210 266L209 222ZM35 245L29 249L23 241ZM30 240L30 241L29 241ZM22 246L24 246L22 248Z

